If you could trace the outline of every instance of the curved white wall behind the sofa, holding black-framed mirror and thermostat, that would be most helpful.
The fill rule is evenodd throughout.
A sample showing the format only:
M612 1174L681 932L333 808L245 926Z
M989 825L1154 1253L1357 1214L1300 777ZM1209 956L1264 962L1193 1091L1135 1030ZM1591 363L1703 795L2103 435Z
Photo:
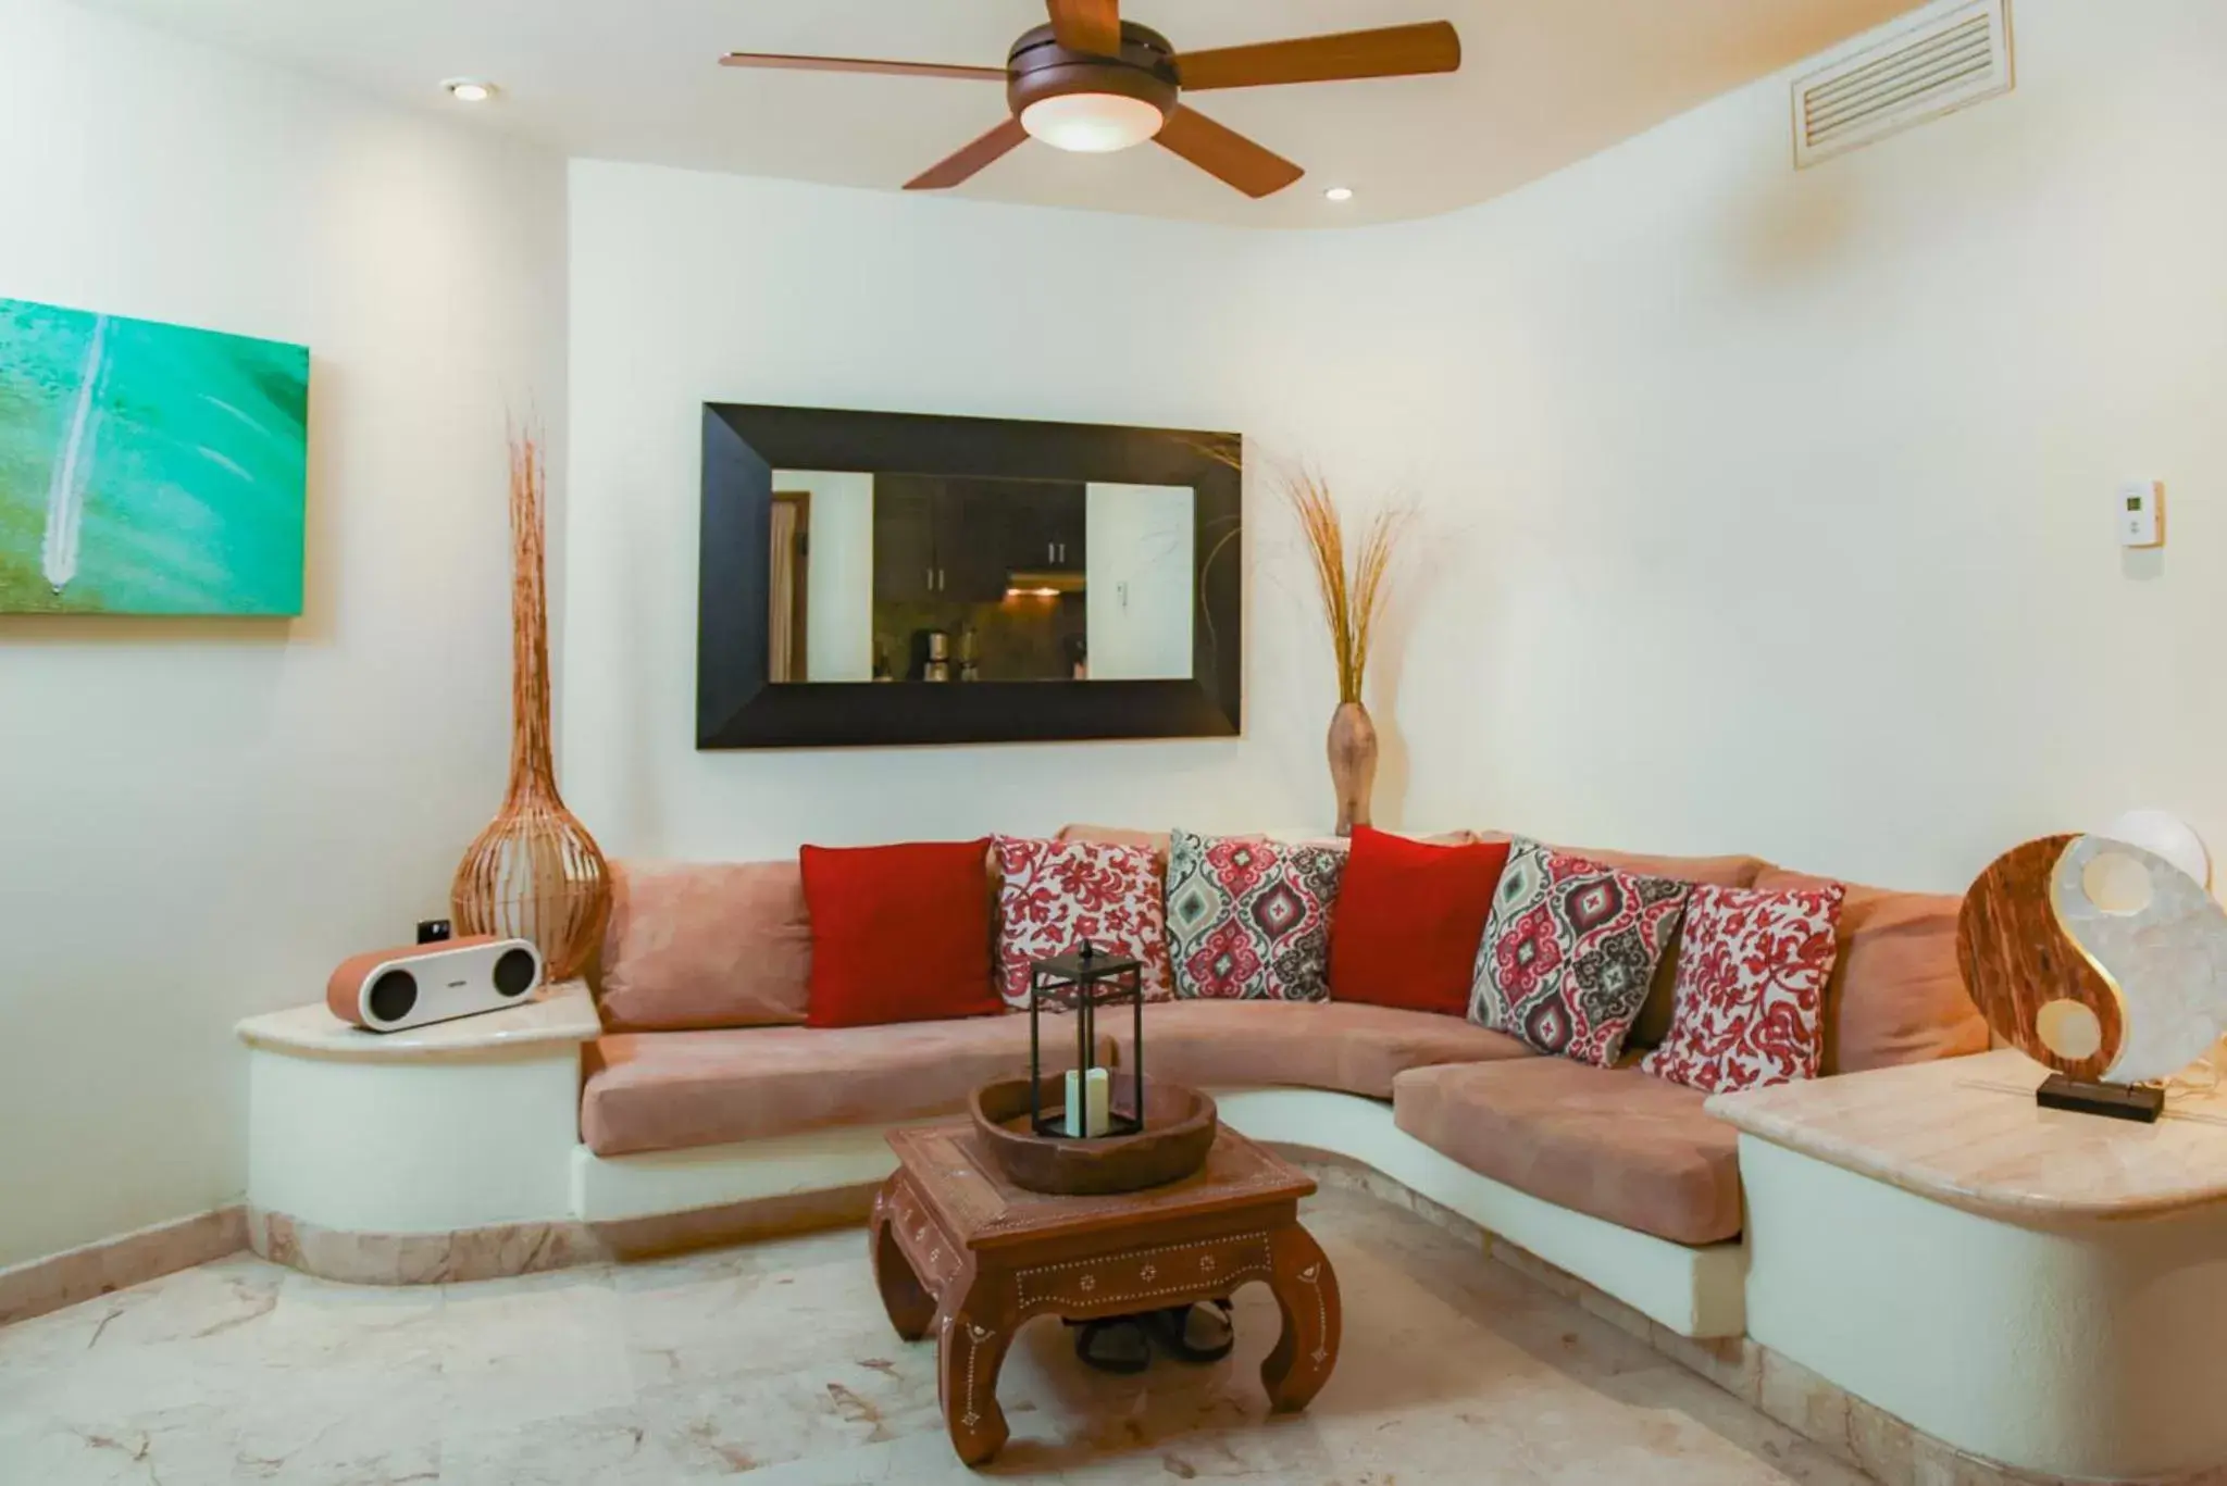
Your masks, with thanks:
M2020 0L2018 67L1813 172L1770 78L1358 232L575 165L572 793L679 856L1323 813L1327 655L1260 490L1240 744L695 753L724 397L1238 428L1410 490L1394 822L1937 889L2131 802L2227 840L2227 7ZM2122 561L2133 475L2171 546Z

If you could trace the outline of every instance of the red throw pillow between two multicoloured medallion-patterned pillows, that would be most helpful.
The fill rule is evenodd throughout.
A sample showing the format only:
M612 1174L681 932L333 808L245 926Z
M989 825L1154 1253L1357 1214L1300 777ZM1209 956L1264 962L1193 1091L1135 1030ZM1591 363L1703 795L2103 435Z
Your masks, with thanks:
M1330 918L1330 998L1468 1016L1508 842L1432 847L1354 827Z

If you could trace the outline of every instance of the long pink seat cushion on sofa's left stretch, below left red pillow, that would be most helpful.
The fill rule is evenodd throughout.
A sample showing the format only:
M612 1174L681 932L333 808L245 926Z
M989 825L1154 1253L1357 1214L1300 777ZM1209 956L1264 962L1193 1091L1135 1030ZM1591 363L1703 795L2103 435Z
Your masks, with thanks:
M1067 1067L1073 1052L1060 1040L1044 1060ZM889 1125L958 1114L980 1085L1027 1074L1027 1016L619 1034L588 1049L579 1132L595 1154L626 1156Z

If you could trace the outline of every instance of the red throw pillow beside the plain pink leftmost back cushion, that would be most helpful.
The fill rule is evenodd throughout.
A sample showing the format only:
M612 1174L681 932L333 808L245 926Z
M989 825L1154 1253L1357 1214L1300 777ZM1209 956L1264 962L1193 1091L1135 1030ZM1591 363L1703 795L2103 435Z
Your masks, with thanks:
M1002 1011L989 976L989 838L804 847L813 920L806 1027L880 1027Z

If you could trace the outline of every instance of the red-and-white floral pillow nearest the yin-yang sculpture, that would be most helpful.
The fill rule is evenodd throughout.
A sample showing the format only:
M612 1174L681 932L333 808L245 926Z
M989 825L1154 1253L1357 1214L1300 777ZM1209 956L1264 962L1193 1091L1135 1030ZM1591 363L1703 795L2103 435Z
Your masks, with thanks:
M1670 1036L1639 1067L1708 1094L1815 1078L1840 882L1697 887L1679 940Z

